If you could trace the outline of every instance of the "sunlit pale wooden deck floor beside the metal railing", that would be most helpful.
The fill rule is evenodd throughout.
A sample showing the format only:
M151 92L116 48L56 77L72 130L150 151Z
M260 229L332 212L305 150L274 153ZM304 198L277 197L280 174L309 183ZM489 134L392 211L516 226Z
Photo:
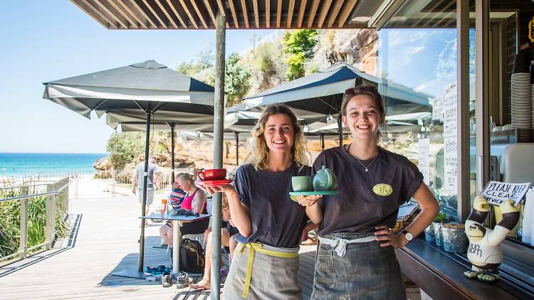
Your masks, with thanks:
M133 196L70 200L73 238L1 267L0 299L209 299L209 291L176 289L174 284L163 288L158 282L111 275L137 267L139 210ZM167 250L154 247L159 246L160 225L146 227L145 267L171 265ZM309 299L315 247L301 247L301 253L299 280Z

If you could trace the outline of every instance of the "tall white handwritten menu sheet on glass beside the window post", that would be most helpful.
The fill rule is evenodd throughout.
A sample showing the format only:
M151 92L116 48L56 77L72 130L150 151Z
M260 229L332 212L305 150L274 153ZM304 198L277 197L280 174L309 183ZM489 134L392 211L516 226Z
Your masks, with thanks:
M457 145L457 122L458 113L456 105L456 82L445 86L444 93L444 189L456 192L458 173L458 145Z

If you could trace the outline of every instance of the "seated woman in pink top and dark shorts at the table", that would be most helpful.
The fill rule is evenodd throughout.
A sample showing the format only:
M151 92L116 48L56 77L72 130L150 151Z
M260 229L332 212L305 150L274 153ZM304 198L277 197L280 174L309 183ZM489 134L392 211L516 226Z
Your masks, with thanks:
M206 193L194 185L194 178L189 173L182 173L178 178L180 187L186 192L184 200L180 205L183 210L192 213L207 213L208 203ZM180 227L182 235L196 235L203 233L209 226L209 218L191 223L184 223ZM167 245L172 245L172 223L167 223L159 228L159 235Z

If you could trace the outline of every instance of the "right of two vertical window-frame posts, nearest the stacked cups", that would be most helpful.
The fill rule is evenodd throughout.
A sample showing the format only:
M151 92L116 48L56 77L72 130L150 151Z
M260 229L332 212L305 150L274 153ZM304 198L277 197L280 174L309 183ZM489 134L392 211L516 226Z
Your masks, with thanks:
M475 4L476 192L489 181L489 0Z

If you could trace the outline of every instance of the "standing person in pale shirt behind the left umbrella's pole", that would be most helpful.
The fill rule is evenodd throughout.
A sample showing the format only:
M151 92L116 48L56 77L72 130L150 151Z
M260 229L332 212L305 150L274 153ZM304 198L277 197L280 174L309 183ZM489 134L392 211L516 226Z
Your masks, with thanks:
M139 203L143 203L143 187L145 184L145 155L139 156L139 164L132 174L132 193L137 193ZM154 187L159 190L159 182L157 181L157 166L154 164L152 156L148 156L148 176L147 176L147 202L145 206L145 215L148 215L150 205L154 201ZM137 188L136 188L137 187ZM148 220L145 220L148 224Z

